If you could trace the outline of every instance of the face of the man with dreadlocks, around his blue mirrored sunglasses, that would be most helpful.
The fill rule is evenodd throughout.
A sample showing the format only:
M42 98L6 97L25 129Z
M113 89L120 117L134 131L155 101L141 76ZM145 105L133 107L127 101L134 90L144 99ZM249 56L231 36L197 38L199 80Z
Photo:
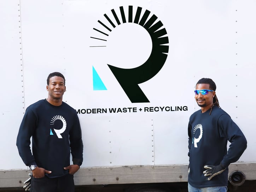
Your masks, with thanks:
M196 90L202 90L202 89L211 89L209 84L199 83L196 85ZM197 101L198 106L201 107L202 112L207 111L208 109L213 106L213 98L215 96L215 91L208 92L206 95L202 95L199 93L198 95L195 95L195 99Z

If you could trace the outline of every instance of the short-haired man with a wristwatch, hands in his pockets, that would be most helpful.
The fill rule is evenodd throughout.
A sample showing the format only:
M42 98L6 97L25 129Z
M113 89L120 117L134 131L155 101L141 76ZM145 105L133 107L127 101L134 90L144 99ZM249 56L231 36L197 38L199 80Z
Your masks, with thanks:
M62 101L66 86L61 73L48 76L46 89L48 98L26 109L16 145L23 162L32 171L30 191L72 192L73 175L83 162L80 122L75 109Z

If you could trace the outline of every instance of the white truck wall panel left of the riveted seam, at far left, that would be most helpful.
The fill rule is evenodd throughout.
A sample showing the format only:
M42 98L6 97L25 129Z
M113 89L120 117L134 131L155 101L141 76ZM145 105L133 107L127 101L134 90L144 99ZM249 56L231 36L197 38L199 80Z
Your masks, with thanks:
M25 107L19 1L0 1L0 26L0 169L25 168L16 147Z

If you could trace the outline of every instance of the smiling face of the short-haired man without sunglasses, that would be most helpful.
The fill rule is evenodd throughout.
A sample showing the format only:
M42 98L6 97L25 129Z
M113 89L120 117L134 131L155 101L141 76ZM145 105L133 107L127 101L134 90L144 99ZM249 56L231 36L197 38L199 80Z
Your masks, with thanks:
M59 76L53 76L49 80L49 85L46 86L48 91L47 101L51 104L62 103L62 97L66 91L66 86L64 84L64 79ZM54 104L53 104L54 105Z

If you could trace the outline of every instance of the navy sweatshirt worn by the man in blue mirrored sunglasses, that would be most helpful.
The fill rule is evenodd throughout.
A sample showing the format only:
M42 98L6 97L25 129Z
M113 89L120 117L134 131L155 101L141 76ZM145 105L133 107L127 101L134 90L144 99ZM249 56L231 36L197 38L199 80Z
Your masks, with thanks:
M209 114L210 109L204 113L198 110L188 123L188 182L196 188L227 186L228 165L237 161L247 147L244 134L225 111L213 106ZM227 141L231 142L228 151ZM203 174L204 165L220 163L226 170L208 181L209 176Z

